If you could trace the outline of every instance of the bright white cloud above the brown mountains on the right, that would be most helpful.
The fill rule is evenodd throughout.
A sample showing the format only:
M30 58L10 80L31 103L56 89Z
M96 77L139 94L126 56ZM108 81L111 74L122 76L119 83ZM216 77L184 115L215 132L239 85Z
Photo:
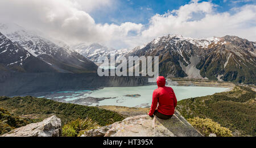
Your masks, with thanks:
M210 2L191 2L164 15L156 14L152 16L150 26L142 31L142 39L151 40L173 33L188 37L236 35L256 40L255 5L238 7L233 14L218 13L214 7L216 5ZM199 19L197 14L201 14Z

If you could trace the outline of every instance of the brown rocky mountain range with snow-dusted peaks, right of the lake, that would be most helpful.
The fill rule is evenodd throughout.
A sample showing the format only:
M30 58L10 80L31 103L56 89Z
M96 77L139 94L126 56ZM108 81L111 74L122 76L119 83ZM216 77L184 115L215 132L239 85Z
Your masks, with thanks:
M236 36L167 35L127 56L159 56L159 73L166 77L255 83L255 53L255 42Z

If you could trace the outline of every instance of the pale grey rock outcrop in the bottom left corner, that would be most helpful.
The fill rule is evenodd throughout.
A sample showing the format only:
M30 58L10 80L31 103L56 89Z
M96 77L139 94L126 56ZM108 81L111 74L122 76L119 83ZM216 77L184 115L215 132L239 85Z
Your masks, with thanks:
M16 128L1 137L60 137L61 120L55 115L44 119L42 122L28 124Z

